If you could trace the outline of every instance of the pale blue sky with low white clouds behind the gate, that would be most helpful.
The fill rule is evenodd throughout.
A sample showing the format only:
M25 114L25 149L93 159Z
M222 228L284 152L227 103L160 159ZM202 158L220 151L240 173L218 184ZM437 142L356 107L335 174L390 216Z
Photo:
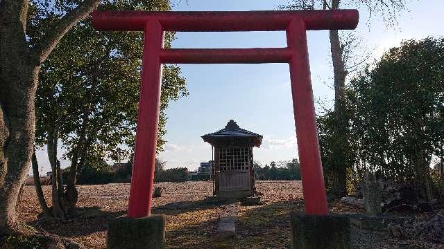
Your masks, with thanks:
M287 0L173 0L173 10L275 10ZM369 63L384 50L398 46L402 39L421 39L443 35L444 1L423 0L408 4L400 13L399 25L386 28L381 17L368 19L365 8L355 31L372 54ZM330 107L334 97L328 31L307 33L311 82L315 105ZM173 48L253 48L284 47L284 32L178 33ZM255 160L290 160L297 157L296 133L291 105L287 64L206 64L181 65L190 95L172 102L167 116L167 145L160 154L167 167L197 169L211 160L211 147L200 138L222 129L230 119L240 127L262 134L255 149ZM321 104L323 103L323 104ZM41 172L49 171L46 151L38 151ZM69 162L62 162L67 166Z

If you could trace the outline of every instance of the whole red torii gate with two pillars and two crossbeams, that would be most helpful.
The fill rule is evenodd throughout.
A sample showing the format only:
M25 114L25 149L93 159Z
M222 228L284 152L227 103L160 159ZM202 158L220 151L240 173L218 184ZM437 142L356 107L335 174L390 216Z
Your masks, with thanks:
M305 212L327 214L306 30L355 29L357 10L92 13L97 30L144 31L142 84L128 216L151 214L162 63L288 63ZM164 31L286 30L287 48L163 48Z

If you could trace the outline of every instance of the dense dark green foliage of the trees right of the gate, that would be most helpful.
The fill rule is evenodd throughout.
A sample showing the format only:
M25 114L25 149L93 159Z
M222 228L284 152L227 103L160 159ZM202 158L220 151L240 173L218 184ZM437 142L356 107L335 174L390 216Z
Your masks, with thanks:
M416 182L431 197L432 158L444 153L444 39L408 40L351 80L345 112L318 118L323 163L352 160L394 181ZM332 127L348 121L348 156L335 159ZM332 122L333 121L333 122Z

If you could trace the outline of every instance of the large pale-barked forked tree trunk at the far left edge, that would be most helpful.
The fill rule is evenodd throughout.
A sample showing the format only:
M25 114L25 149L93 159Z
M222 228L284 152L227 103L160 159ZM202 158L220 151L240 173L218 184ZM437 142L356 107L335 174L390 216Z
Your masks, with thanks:
M19 189L31 163L40 64L63 35L99 3L80 3L31 49L26 40L28 0L0 1L0 234L15 226Z

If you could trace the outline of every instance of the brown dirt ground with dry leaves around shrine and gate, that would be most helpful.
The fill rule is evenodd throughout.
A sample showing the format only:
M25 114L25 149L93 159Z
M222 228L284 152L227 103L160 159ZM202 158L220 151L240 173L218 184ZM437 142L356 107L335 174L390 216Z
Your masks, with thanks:
M212 183L155 183L162 197L153 199L153 213L165 214L166 248L290 248L289 211L304 209L300 181L262 181L262 205L240 206L237 236L223 239L216 223L223 204L205 201ZM39 221L41 212L33 186L26 186L19 201L19 219L37 230L69 237L87 248L105 248L108 221L126 214L129 184L78 186L80 216L69 221ZM51 204L50 186L44 186ZM362 212L340 202L330 204L330 212ZM352 248L444 248L443 245L415 240L392 239L386 231L373 232L352 227Z

